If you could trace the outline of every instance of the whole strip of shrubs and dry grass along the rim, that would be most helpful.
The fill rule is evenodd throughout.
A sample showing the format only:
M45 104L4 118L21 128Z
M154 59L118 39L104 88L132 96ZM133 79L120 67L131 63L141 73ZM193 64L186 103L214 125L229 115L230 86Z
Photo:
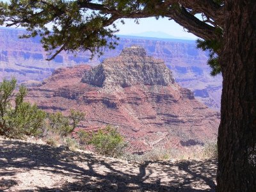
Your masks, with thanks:
M104 156L121 157L129 161L157 161L166 159L216 158L216 143L207 143L204 148L180 152L174 149L155 148L142 156L126 152L124 137L108 125L97 132L80 129L75 136L71 133L83 120L85 113L70 110L68 116L63 113L45 113L35 105L24 102L27 90L24 86L17 88L17 81L4 79L0 83L0 133L8 138L24 139L26 136L41 136L53 147L64 145L71 150L91 146Z

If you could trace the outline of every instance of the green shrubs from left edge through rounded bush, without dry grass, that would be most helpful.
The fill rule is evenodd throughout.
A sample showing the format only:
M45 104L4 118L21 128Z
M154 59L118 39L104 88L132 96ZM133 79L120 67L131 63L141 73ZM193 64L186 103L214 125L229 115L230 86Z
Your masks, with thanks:
M24 102L27 89L17 88L17 80L4 79L0 83L0 135L8 138L24 139L26 136L42 136L51 146L63 143L68 148L79 148L92 145L97 152L105 156L120 157L126 143L124 137L110 125L97 132L79 130L77 137L81 146L70 134L83 120L85 113L70 110L64 116L60 111L45 113L37 106Z

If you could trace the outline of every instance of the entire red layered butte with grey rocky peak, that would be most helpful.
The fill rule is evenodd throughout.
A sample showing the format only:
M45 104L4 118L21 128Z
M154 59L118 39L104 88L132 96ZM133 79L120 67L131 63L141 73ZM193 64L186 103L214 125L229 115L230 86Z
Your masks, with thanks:
M217 112L173 81L163 61L136 46L94 68L60 68L31 88L28 100L47 111L84 111L83 129L114 125L134 152L202 145L216 138L220 122Z

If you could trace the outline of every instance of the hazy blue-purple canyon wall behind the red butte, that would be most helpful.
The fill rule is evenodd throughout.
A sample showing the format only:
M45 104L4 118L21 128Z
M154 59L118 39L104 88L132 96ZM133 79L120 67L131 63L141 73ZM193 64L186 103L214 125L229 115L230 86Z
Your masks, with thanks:
M164 61L173 72L175 82L192 90L196 99L220 111L222 77L212 77L207 66L207 52L196 49L193 40L175 40L120 36L115 50L106 50L100 58L90 60L90 52L77 52L76 56L61 52L52 61L46 61L47 52L40 44L40 38L20 39L22 29L0 28L0 78L15 76L26 86L40 84L51 76L56 68L76 65L99 65L106 58L118 56L122 49L140 45L147 54Z

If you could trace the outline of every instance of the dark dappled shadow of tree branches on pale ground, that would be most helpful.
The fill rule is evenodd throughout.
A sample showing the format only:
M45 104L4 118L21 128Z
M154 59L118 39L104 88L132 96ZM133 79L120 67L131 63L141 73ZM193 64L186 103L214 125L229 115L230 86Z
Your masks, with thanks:
M0 161L0 169L3 168L3 173L10 168L13 168L13 170L45 170L53 175L58 173L76 178L76 182L65 182L54 188L37 186L38 191L185 192L214 191L215 188L216 162L214 161L182 161L180 163L147 161L143 164L128 163L128 168L122 169L124 164L120 161L115 161L115 159L105 161L106 157L99 159L93 154L72 152L63 148L23 141L3 140L0 144L0 159L5 159ZM81 163L84 166L81 166ZM96 169L95 165L104 167L108 171L99 172L100 168ZM13 170L12 173L6 172L6 175L15 175ZM138 171L135 172L134 170ZM185 173L180 175L177 170ZM159 173L156 173L157 171ZM161 173L166 173L167 176L162 177ZM164 181L166 177L170 177L170 181ZM2 178L4 178L4 175ZM208 188L195 189L193 185L195 182L204 183ZM17 185L15 180L4 183L10 183L6 188Z

